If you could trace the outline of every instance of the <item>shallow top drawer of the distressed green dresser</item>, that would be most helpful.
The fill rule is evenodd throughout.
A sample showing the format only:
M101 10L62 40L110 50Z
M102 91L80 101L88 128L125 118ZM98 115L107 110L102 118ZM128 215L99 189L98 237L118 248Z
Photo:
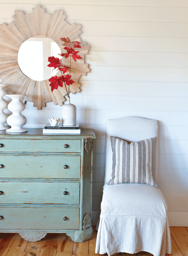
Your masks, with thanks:
M81 140L0 139L0 144L0 152L81 152Z

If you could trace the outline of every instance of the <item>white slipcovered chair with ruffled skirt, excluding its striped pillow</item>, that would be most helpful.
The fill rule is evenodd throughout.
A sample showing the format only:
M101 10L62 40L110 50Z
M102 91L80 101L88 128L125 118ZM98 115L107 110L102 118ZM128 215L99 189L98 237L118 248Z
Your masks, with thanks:
M156 138L158 137L157 120L136 116L110 119L106 123L106 133L105 185L96 253L113 255L120 252L133 254L147 251L154 256L170 254L171 238L167 203L158 184L110 182L112 157L114 157L112 139L117 137L130 143ZM155 156L152 175L157 171L158 162L157 138L153 141L156 143L153 148L155 151L152 151Z

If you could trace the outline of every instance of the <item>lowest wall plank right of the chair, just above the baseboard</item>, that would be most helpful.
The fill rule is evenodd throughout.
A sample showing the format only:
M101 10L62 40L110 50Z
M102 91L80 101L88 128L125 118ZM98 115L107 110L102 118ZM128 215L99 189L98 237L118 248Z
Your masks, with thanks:
M188 197L165 197L165 200L168 211L188 211Z

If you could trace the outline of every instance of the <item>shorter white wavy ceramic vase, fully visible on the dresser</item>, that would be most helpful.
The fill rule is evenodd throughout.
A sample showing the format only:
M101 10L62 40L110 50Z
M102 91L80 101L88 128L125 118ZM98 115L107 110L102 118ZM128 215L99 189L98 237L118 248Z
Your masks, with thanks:
M26 108L26 105L21 102L21 99L26 94L6 94L12 101L8 105L8 109L12 112L12 115L7 118L8 125L11 126L8 133L24 133L27 129L22 128L27 123L25 116L21 112Z

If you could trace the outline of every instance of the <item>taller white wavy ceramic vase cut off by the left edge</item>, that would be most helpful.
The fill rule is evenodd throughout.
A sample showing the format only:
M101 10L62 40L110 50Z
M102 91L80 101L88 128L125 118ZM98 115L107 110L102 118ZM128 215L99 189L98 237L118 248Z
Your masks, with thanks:
M7 108L8 103L3 97L6 95L7 91L3 88L5 88L8 85L2 85L0 84L0 130L6 130L9 129L8 126L5 126L6 119L8 117L7 114L3 111L5 108Z

